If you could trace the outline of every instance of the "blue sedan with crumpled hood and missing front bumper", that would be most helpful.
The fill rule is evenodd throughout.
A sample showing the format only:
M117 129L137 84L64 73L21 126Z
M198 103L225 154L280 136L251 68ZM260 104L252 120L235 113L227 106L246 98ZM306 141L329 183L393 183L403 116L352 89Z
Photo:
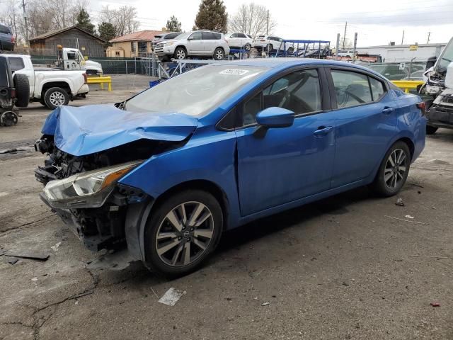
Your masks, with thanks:
M115 106L57 108L35 176L89 249L180 276L225 230L359 186L395 195L424 114L419 96L353 64L219 62Z

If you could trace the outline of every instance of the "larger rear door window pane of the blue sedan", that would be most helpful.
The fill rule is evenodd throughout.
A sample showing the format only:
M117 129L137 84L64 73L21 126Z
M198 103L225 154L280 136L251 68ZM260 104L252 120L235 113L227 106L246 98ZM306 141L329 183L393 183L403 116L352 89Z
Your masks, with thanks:
M365 74L339 70L332 70L331 74L338 108L372 102L368 77Z

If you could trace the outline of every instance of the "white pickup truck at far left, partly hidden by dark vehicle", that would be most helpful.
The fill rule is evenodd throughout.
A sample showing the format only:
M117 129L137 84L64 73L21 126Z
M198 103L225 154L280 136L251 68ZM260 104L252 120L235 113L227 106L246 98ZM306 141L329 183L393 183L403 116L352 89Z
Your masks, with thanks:
M13 74L25 74L30 83L30 101L39 101L54 109L67 105L75 96L88 94L85 71L35 69L29 55L1 55L7 57Z

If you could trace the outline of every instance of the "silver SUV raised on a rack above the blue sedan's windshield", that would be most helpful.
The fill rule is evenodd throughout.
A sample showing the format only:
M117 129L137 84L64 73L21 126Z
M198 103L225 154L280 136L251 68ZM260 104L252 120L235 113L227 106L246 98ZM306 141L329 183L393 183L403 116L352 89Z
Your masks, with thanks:
M229 45L222 33L196 30L178 35L173 40L158 42L154 52L164 61L172 57L175 59L212 57L214 60L223 60L229 55Z

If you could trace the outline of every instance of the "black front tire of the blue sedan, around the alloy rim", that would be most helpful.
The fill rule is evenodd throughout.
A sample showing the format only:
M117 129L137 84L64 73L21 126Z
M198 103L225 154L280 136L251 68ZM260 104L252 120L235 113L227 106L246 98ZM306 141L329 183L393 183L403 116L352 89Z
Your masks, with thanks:
M166 215L172 212L173 209L180 208L180 205L183 203L185 203L185 212L188 217L184 223L184 227L178 231L175 227L173 227L174 224L171 224L168 218L166 218ZM205 208L207 208L202 208L202 210L200 210L200 215L198 215L200 218L204 217L205 214L209 215L210 213L211 215L205 220L205 222L202 222L202 225L199 225L198 227L190 227L190 217L196 210L197 206L200 206L196 205L197 203L202 203L202 205L205 205ZM182 216L182 214L178 215ZM198 220L200 220L200 218ZM197 220L195 220L195 222L196 221ZM180 219L178 219L178 222L180 222ZM209 225L210 228L205 229L207 225ZM186 227L187 229L185 229ZM217 244L219 244L220 237L222 236L222 229L222 208L214 196L206 191L200 190L186 190L176 193L153 208L151 217L149 217L149 220L147 221L144 232L146 257L145 265L151 271L160 273L161 275L167 277L187 275L188 273L191 273L199 268L202 263L207 260L210 254L212 254L212 251L214 251ZM203 230L208 233L211 232L212 237L209 239L202 237L201 235L193 234L197 231L200 232ZM161 232L172 231L173 234L177 234L177 236L159 238L159 241L157 240L157 235L159 234L159 236L161 236ZM202 242L203 246L206 246L205 250L201 250L202 247L197 246L200 242ZM163 249L163 247L167 246L169 243L173 244L173 247L164 251L165 248ZM189 261L188 264L185 264L187 244L189 244ZM158 248L159 246L161 247ZM197 253L197 251L201 251L201 253ZM192 256L193 259L191 259ZM169 259L170 257L171 259Z

